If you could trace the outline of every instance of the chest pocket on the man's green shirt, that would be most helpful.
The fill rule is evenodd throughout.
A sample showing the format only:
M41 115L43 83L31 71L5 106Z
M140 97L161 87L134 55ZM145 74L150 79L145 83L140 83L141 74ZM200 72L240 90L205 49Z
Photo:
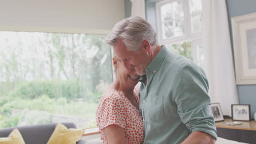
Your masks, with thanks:
M144 109L146 121L159 121L164 118L163 102L163 97L161 95L149 95Z

